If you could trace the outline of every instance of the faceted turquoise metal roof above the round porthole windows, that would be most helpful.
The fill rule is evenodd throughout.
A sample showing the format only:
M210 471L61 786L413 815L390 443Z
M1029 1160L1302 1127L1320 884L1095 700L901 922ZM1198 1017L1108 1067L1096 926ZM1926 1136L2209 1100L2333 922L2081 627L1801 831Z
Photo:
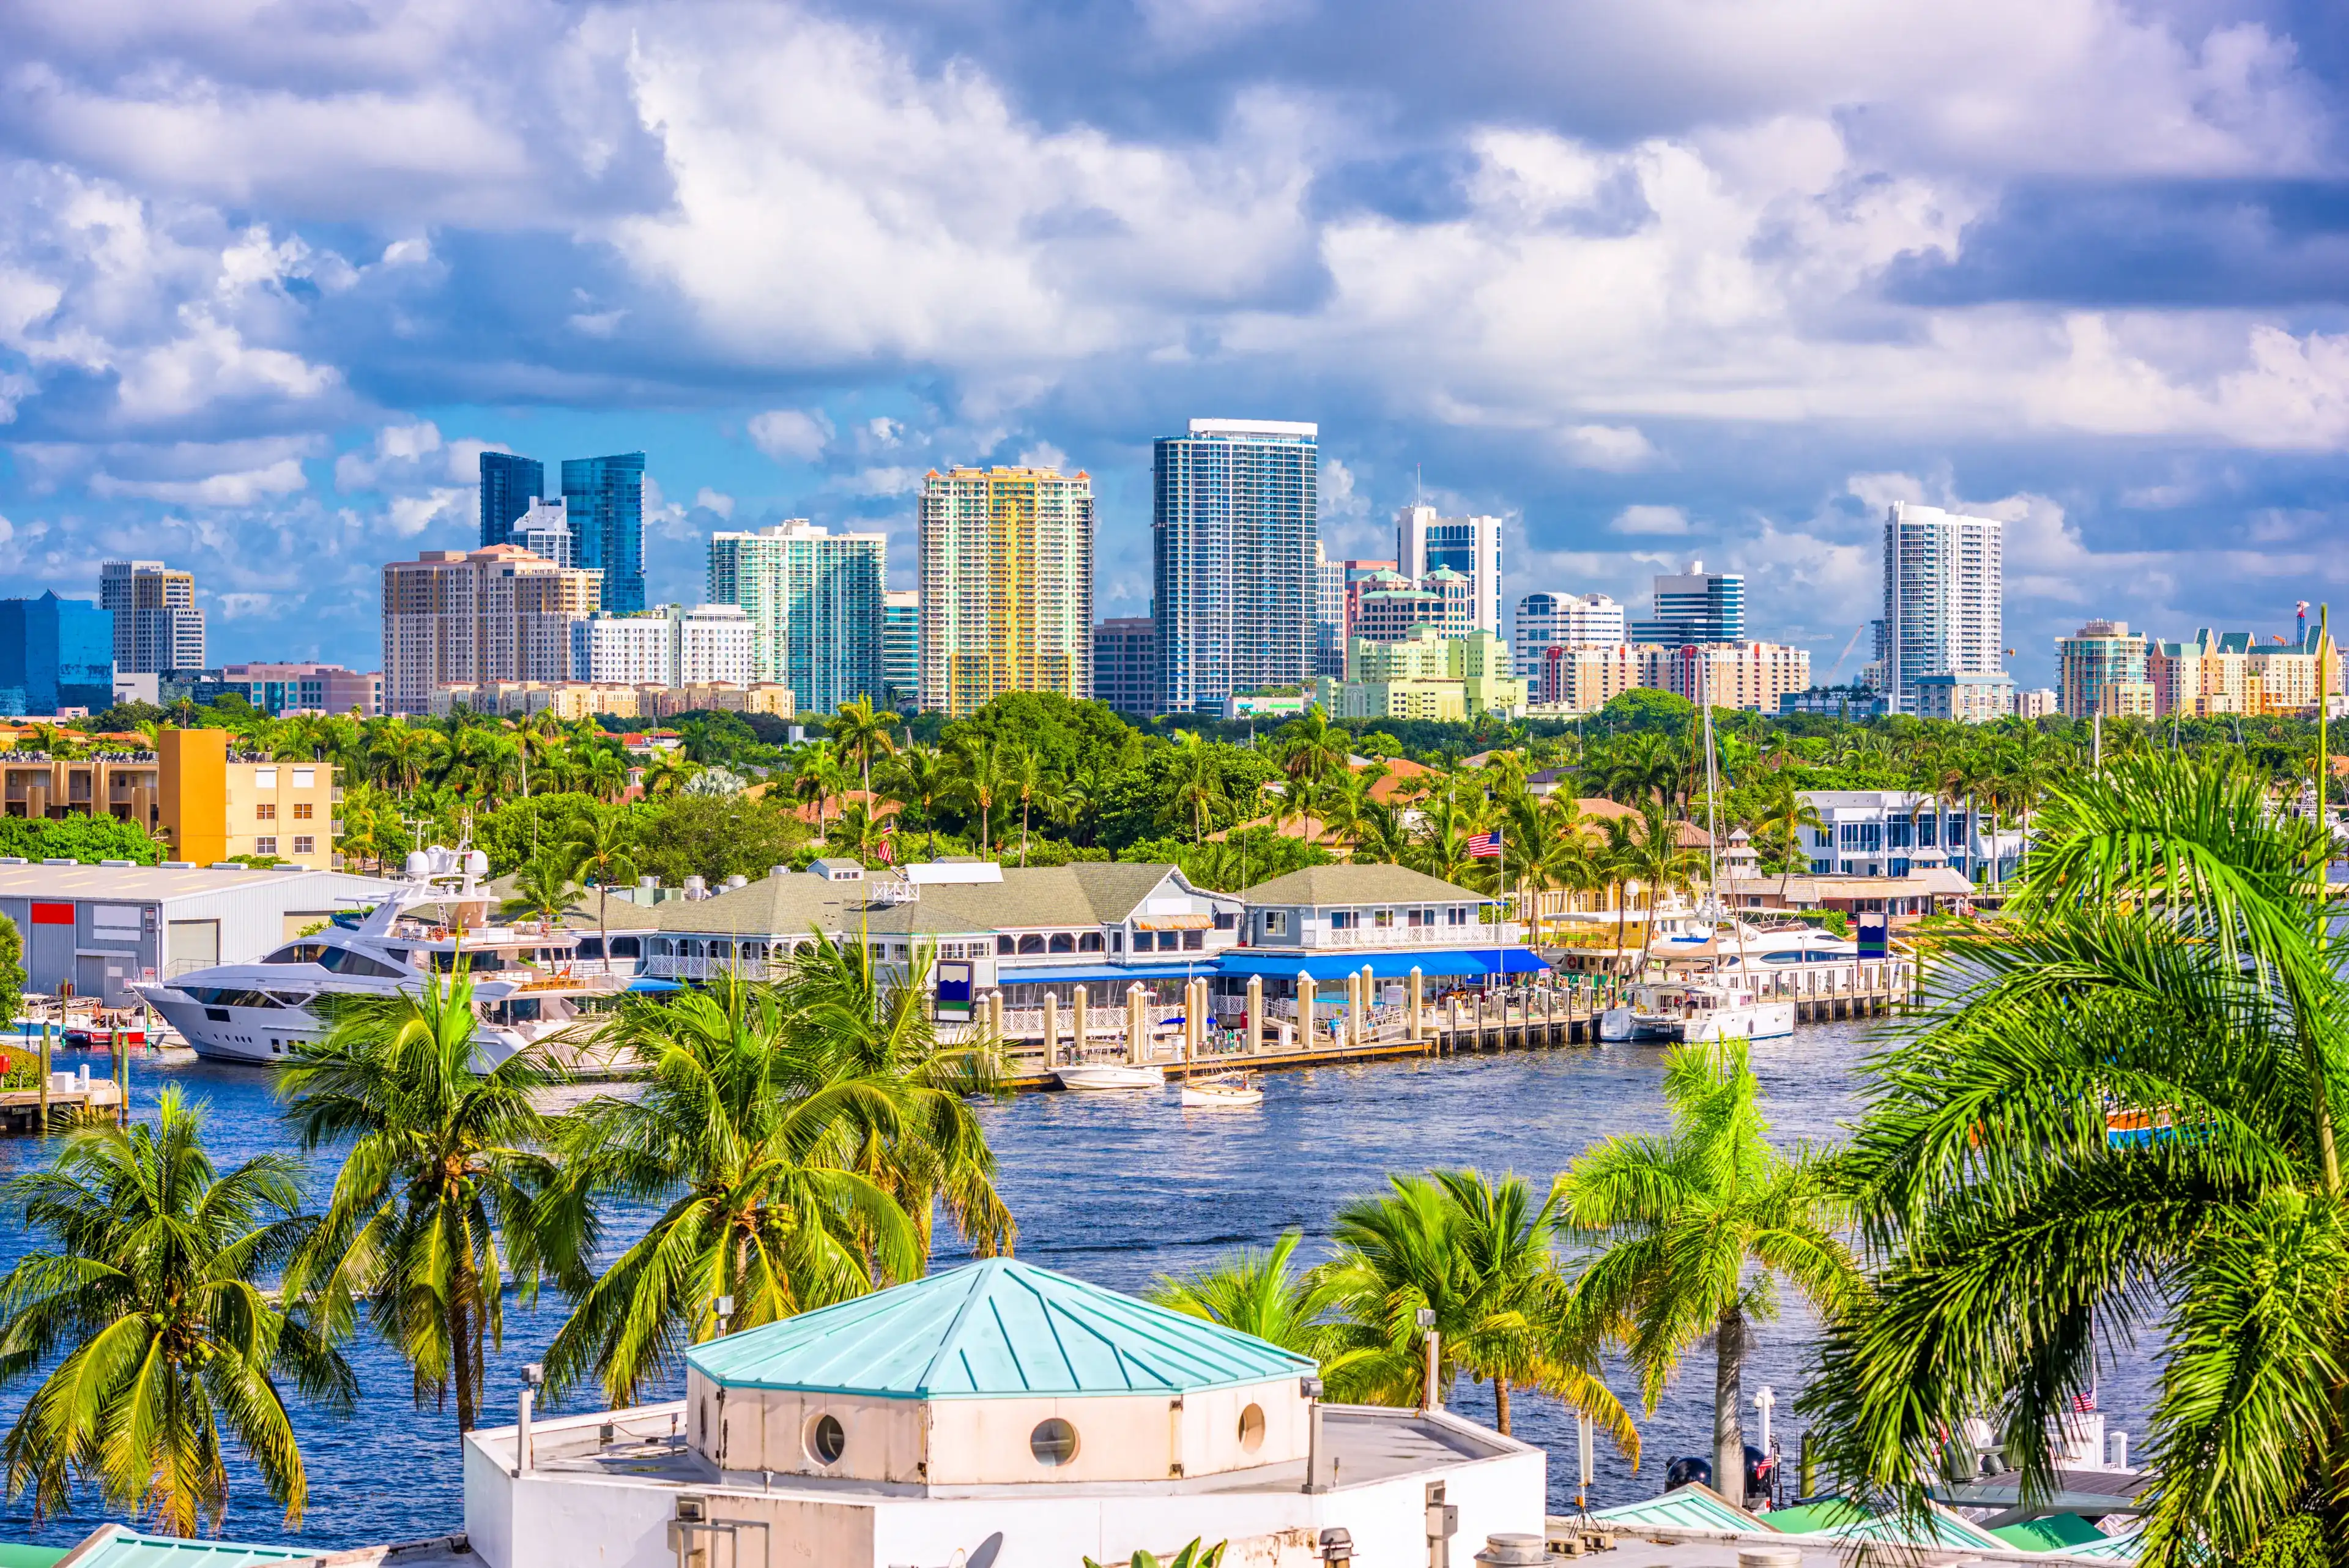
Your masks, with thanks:
M686 1352L723 1387L984 1399L1182 1394L1315 1371L1207 1319L987 1258Z

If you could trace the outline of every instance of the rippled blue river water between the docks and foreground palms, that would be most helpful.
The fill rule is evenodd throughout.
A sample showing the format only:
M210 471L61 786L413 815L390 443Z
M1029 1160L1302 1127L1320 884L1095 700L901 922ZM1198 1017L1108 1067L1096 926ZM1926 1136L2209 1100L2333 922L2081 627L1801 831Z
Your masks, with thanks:
M1802 1030L1755 1051L1766 1107L1783 1143L1830 1140L1858 1110L1860 1025ZM82 1058L61 1058L59 1065ZM103 1058L94 1070L103 1077ZM1621 1131L1663 1131L1661 1058L1651 1048L1569 1048L1517 1056L1322 1067L1266 1077L1257 1112L1182 1112L1167 1095L1019 1095L982 1117L1003 1164L1001 1187L1019 1220L1019 1255L1106 1286L1137 1291L1153 1276L1198 1267L1226 1248L1261 1244L1287 1227L1325 1255L1330 1218L1346 1199L1377 1190L1388 1171L1480 1166L1520 1171L1548 1182L1593 1140ZM211 1105L211 1145L221 1164L287 1147L270 1072L190 1065L134 1072L134 1105L153 1107L164 1084L181 1084ZM0 1168L38 1159L33 1140L0 1143ZM319 1157L319 1192L331 1182ZM637 1225L644 1215L637 1218ZM26 1237L0 1220L0 1267ZM951 1241L942 1253L951 1253ZM951 1262L942 1255L940 1262ZM491 1363L484 1420L512 1420L519 1368L545 1349L561 1321L507 1309L505 1349ZM1809 1366L1813 1324L1799 1302L1759 1331L1745 1371L1748 1399L1773 1385L1788 1465L1799 1448L1799 1420L1788 1410ZM352 1420L296 1413L310 1472L310 1519L289 1535L280 1512L249 1474L237 1476L226 1526L233 1540L301 1540L357 1547L444 1533L463 1526L456 1415L416 1410L409 1373L373 1340L348 1354L362 1380ZM2126 1356L2123 1356L2126 1359ZM1616 1378L1616 1389L1630 1389ZM26 1387L0 1389L0 1422L14 1422ZM655 1399L674 1399L660 1389ZM2142 1363L2107 1375L2102 1403L2114 1425L2145 1432L2149 1387ZM1529 1394L1513 1401L1517 1436L1550 1450L1550 1502L1574 1495L1574 1418ZM1454 1406L1492 1420L1489 1389L1461 1382ZM1748 1439L1755 1415L1748 1408ZM1654 1415L1640 1418L1647 1460L1637 1474L1600 1448L1595 1500L1618 1502L1661 1490L1663 1467L1684 1453L1708 1453L1712 1432L1712 1359L1698 1349L1682 1366ZM101 1514L33 1523L23 1505L0 1514L0 1540L52 1544L85 1535Z

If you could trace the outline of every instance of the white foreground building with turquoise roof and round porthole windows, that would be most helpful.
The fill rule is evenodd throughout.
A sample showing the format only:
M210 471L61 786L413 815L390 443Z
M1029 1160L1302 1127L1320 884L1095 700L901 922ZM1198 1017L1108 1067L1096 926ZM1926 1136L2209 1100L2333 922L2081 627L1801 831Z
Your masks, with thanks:
M1332 1406L1313 1361L991 1258L695 1345L686 1396L465 1434L486 1568L1466 1561L1543 1533L1546 1455ZM1442 1530L1442 1535L1433 1535Z

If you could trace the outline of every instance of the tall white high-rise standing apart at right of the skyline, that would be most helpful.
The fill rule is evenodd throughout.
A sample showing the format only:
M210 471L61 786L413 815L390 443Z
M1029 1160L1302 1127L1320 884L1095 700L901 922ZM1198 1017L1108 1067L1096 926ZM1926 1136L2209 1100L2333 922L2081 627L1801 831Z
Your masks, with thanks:
M1884 621L1875 679L1891 712L1921 712L1926 675L2001 675L2006 524L1896 501L1884 515Z

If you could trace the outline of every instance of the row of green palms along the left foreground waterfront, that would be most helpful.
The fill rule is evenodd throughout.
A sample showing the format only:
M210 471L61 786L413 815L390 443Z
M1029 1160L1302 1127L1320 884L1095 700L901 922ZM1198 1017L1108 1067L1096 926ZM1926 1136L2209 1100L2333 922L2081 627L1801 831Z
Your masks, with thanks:
M324 1006L329 1034L280 1072L294 1143L343 1150L324 1213L294 1154L216 1173L176 1091L155 1126L85 1126L7 1187L49 1241L0 1276L0 1382L47 1371L0 1441L35 1509L82 1481L218 1528L235 1448L298 1523L287 1399L348 1413L357 1333L470 1429L507 1298L568 1305L557 1396L627 1403L695 1340L921 1274L933 1213L982 1255L1012 1244L970 1107L1001 1081L991 1041L942 1044L921 976L862 945L817 943L773 985L625 997L608 1039L646 1084L568 1114L543 1110L559 1072L538 1056L477 1072L465 973ZM599 1267L613 1201L665 1208Z

